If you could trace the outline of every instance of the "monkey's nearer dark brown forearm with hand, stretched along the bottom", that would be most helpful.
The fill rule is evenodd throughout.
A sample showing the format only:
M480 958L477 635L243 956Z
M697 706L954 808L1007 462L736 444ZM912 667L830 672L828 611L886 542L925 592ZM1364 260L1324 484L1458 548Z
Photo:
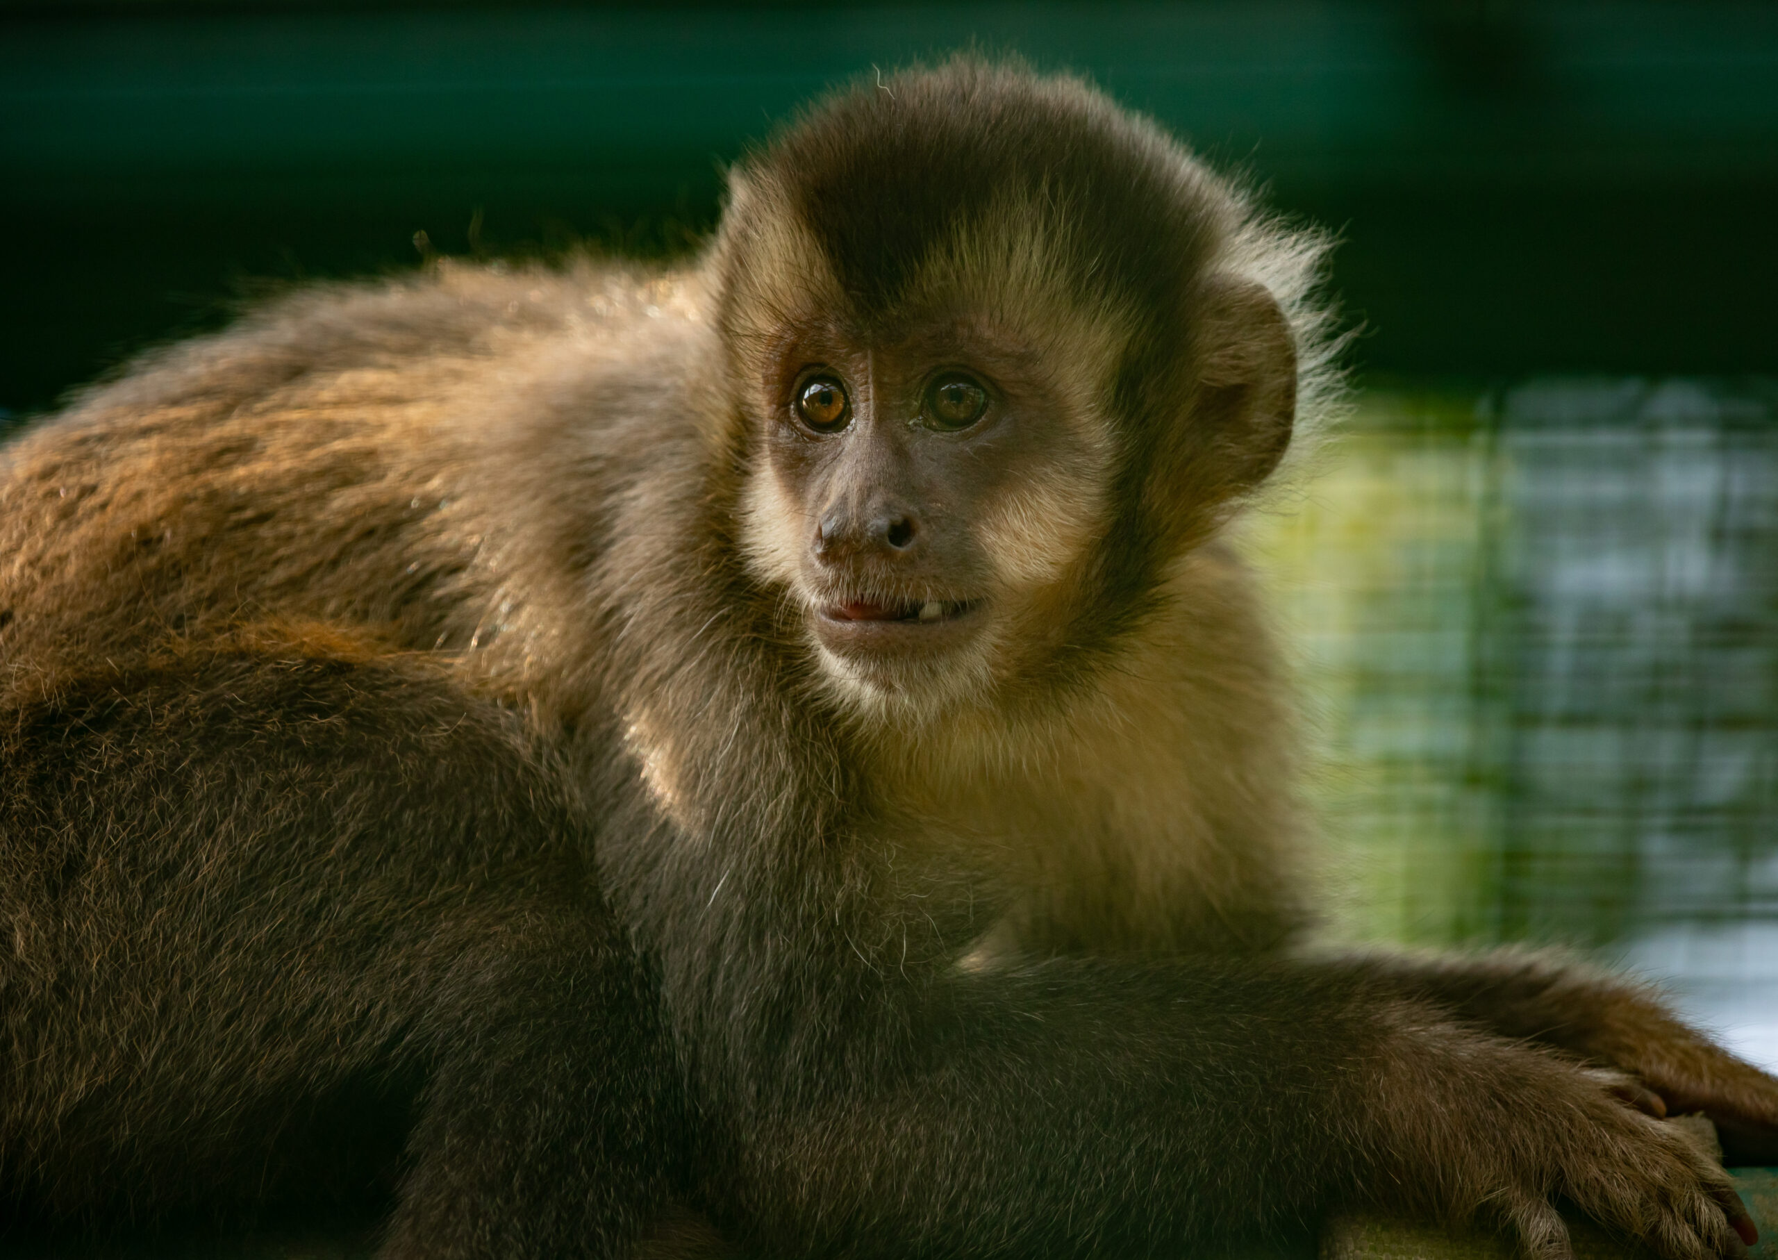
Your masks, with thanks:
M1309 967L944 981L900 1034L752 1086L713 1207L766 1249L1152 1253L1358 1201L1559 1256L1565 1194L1666 1256L1739 1253L1719 1171L1597 1075Z

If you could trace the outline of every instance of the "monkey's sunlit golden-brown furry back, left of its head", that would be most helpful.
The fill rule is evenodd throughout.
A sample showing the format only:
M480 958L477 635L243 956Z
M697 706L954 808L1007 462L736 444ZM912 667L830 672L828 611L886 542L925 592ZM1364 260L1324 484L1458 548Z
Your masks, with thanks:
M0 450L0 659L18 677L265 620L491 645L537 597L514 522L551 528L544 503L512 512L521 466L573 483L553 528L596 553L638 448L674 443L638 412L697 354L695 302L686 277L594 263L446 265L151 355Z

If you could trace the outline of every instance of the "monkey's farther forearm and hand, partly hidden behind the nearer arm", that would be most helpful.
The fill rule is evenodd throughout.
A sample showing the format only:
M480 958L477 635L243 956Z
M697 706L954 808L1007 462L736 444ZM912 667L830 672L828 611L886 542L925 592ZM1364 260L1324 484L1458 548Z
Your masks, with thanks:
M1716 1121L1730 1164L1778 1160L1778 1081L1673 1017L1659 992L1556 953L1371 954L1341 963L1501 1036L1629 1072Z

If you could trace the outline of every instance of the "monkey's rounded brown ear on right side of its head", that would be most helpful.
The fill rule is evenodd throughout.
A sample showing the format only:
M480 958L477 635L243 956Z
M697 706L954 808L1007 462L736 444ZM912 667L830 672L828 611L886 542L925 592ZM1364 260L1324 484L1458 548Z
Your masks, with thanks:
M1195 419L1207 427L1218 471L1239 494L1264 482L1291 444L1296 338L1264 284L1227 272L1205 277L1195 323Z

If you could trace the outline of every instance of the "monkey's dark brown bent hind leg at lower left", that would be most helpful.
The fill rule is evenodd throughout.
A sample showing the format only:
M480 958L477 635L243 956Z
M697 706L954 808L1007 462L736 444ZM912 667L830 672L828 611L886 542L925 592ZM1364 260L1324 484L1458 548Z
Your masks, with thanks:
M327 642L0 691L11 1219L356 1207L398 1162L386 1260L621 1255L672 1091L585 830L510 714Z

